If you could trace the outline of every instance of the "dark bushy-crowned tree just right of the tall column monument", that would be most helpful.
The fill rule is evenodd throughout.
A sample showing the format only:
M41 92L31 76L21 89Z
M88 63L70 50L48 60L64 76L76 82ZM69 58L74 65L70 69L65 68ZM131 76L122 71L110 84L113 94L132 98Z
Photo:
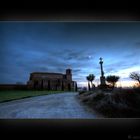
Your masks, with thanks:
M119 80L119 76L109 75L106 77L106 81L111 84L112 88L114 89L116 82Z

